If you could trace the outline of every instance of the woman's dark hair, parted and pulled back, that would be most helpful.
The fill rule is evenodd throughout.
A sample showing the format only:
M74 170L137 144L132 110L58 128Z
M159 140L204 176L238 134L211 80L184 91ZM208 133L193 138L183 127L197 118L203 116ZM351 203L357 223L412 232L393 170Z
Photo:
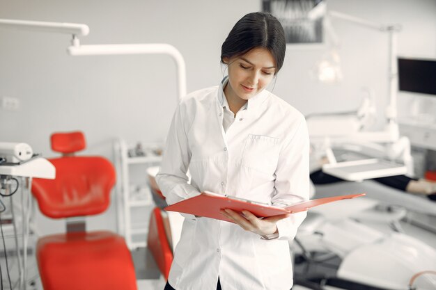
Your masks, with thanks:
M249 13L236 22L221 46L221 63L224 58L242 56L254 48L271 52L277 66L274 74L277 74L285 60L286 40L283 26L270 13Z

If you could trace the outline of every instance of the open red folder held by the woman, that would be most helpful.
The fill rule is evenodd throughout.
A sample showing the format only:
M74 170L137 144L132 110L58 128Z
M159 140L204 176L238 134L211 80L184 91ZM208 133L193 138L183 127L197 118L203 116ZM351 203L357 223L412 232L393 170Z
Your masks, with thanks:
M299 211L306 211L311 207L317 207L318 205L328 202L357 198L363 195L365 195L365 193L338 195L330 198L318 198L316 200L297 202L288 207L275 207L261 202L254 202L252 200L244 200L234 196L220 195L218 193L205 191L193 198L188 198L181 202L171 204L168 207L165 207L165 210L178 211L180 213L193 214L194 216L203 216L205 218L215 218L216 220L225 220L233 223L231 220L220 214L219 211L221 209L233 209L234 211L247 210L258 218L266 218L268 216L279 216L281 214L295 214Z

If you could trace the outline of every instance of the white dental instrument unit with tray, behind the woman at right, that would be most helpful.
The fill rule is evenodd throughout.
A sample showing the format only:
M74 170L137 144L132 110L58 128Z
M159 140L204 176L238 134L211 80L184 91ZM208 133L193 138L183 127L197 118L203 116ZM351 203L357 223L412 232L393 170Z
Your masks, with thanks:
M322 170L349 181L413 175L410 140L400 136L398 123L391 120L381 131L368 130L375 115L375 106L371 102L373 96L370 91L368 94L356 111L306 116L311 158L326 156L328 164L323 165ZM348 150L361 158L345 163L347 160L340 160L334 150Z

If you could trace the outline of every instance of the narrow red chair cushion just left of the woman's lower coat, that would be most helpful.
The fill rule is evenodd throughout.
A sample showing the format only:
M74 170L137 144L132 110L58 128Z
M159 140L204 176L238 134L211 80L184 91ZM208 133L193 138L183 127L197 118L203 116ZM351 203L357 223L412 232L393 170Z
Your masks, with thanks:
M155 258L160 272L168 280L169 269L173 262L173 252L166 239L164 221L161 215L161 209L156 207L150 216L148 225L147 248Z

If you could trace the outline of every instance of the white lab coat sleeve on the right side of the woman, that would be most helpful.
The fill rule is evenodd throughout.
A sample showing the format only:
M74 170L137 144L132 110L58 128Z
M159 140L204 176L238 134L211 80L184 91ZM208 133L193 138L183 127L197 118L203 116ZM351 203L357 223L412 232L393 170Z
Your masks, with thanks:
M272 204L283 207L309 200L309 133L302 117L295 134L284 143L277 164ZM279 239L294 239L299 225L306 218L306 211L291 214L277 222Z

